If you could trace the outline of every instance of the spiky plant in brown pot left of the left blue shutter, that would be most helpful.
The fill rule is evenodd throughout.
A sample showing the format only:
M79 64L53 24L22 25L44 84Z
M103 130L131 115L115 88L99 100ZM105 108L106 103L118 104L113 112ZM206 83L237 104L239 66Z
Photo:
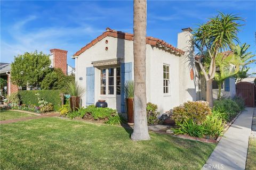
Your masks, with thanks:
M81 96L84 94L85 89L77 84L77 82L70 82L68 87L71 96L69 98L71 111L77 111L80 107Z

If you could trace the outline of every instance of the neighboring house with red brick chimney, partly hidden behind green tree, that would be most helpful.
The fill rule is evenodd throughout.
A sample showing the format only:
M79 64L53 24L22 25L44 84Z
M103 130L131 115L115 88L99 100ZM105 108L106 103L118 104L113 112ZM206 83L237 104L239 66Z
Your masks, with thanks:
M65 74L75 74L75 69L67 64L67 51L62 49L50 49L51 67L60 68ZM12 84L10 79L11 64L1 63L0 65L1 78L7 80L7 94L10 95L13 92L17 92L20 87ZM26 88L25 88L26 89ZM23 88L22 88L23 90Z

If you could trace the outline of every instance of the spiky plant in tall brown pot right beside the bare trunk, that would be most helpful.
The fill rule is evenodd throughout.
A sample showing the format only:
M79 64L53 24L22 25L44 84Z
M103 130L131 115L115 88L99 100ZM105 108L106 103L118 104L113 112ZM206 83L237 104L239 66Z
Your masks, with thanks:
M124 97L125 97L125 104L126 104L126 113L128 118L128 124L133 125L133 98L134 98L134 82L133 81L126 81L124 84Z

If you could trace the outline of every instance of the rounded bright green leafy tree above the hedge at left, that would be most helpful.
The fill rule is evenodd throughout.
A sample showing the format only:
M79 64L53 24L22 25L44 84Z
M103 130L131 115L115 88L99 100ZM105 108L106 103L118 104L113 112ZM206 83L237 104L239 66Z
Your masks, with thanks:
M18 86L39 89L43 78L50 72L50 64L49 55L43 52L18 55L11 64L11 80Z

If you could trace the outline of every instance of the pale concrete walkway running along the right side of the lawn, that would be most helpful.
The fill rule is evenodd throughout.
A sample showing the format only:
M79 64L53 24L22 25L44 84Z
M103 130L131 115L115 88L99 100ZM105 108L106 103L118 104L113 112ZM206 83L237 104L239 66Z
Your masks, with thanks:
M254 108L247 107L238 116L202 169L245 169L253 112Z

